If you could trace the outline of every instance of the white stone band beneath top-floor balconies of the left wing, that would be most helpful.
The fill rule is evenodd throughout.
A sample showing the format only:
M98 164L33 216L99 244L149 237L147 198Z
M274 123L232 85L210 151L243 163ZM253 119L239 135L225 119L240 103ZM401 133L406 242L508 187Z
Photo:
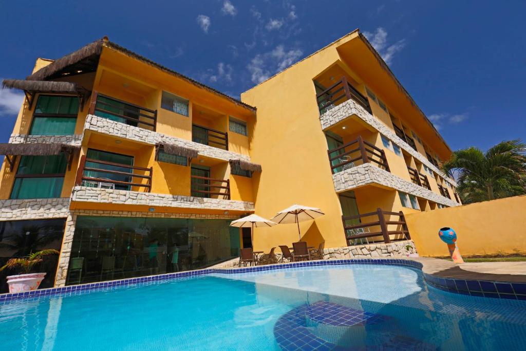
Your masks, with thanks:
M84 130L109 134L116 137L126 138L136 142L150 145L155 145L156 143L163 142L189 147L196 149L199 155L222 159L224 161L229 161L230 159L242 159L245 161L250 161L250 157L248 155L242 155L226 151L217 147L195 143L186 139L176 138L173 136L148 131L147 129L110 121L107 118L102 118L94 115L88 115L86 117Z

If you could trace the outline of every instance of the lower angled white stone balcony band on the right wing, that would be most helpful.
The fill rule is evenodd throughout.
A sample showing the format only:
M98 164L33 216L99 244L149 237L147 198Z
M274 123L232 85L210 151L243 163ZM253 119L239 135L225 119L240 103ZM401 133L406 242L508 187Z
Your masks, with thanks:
M370 163L345 169L332 175L334 187L337 193L351 190L359 186L376 183L389 188L400 190L414 196L422 197L433 202L447 205L450 207L458 206L454 200L448 199L431 190L423 188L417 184L408 182L405 179L397 177L381 168L373 166Z

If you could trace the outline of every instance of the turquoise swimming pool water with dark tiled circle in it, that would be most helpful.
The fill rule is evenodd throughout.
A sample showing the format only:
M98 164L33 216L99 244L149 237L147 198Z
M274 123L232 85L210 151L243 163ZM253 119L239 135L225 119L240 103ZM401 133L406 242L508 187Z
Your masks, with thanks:
M308 344L306 344L308 343ZM520 350L526 302L341 265L208 276L0 306L1 350Z

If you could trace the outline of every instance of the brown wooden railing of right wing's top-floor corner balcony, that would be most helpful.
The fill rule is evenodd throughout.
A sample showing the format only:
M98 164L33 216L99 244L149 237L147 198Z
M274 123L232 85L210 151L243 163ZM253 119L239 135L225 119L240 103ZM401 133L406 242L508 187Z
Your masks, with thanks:
M356 90L344 76L338 82L331 85L323 92L316 95L316 101L318 103L318 108L320 114L323 114L332 107L335 107L337 104L353 99L363 108L365 108L369 113L371 113L371 106L367 97L363 96L359 91Z

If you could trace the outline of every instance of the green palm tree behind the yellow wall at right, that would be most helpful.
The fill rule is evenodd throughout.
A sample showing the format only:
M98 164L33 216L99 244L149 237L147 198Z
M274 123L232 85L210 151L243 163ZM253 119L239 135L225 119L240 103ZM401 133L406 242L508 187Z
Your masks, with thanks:
M526 194L526 144L504 141L485 153L461 149L442 164L442 171L456 173L464 204Z

